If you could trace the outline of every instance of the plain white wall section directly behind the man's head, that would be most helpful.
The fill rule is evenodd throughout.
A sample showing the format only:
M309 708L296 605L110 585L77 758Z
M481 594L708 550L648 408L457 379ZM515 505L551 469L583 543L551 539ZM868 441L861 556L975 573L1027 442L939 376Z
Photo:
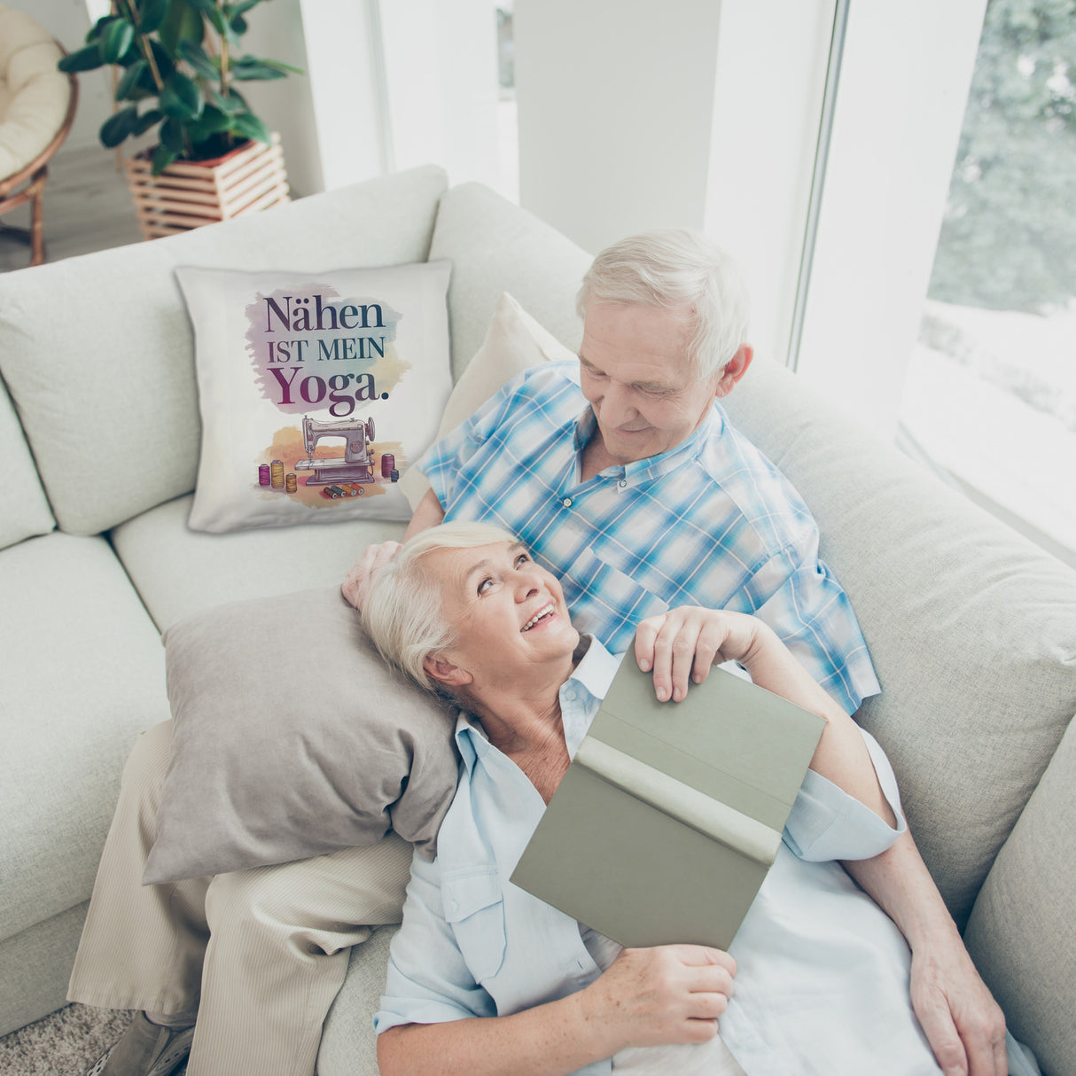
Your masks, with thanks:
M703 226L721 4L516 0L520 203L597 251Z

